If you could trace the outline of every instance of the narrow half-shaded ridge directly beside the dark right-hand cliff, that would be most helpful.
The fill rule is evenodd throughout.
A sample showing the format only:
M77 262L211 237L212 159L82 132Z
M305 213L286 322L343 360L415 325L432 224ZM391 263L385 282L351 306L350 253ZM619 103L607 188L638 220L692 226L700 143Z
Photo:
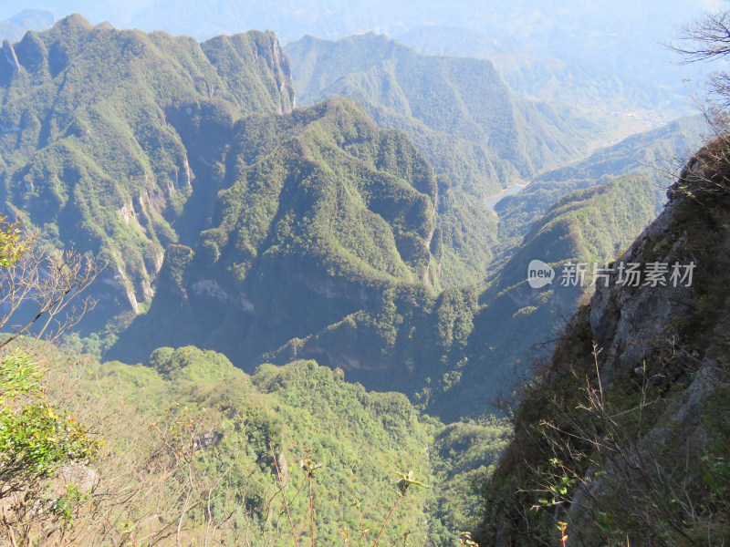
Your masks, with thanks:
M652 183L643 175L573 191L558 201L479 295L466 359L434 389L433 408L443 408L454 398L461 401L460 408L485 408L497 395L505 395L524 374L525 363L544 351L543 345L550 346L593 290L593 264L602 267L612 260L652 218ZM551 284L533 288L527 283L533 260L554 268ZM587 264L582 286L561 278L568 263Z

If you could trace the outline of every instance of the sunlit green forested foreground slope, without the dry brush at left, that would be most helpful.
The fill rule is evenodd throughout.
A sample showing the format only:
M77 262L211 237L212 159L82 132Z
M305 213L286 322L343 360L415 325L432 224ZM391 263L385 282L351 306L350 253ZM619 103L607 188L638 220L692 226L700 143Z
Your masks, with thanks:
M112 397L120 414L121 408L132 408L141 423L148 422L149 428L134 432L146 439L138 451L146 446L153 452L161 432L181 424L194 428L187 442L215 439L205 449L187 452L196 477L216 485L212 516L190 511L184 528L237 514L238 521L221 527L228 530L227 542L249 533L255 542L276 538L277 545L293 544L286 509L276 497L273 447L300 542L309 541L310 523L307 474L297 463L310 459L321 465L312 485L318 544L338 544L340 532L356 542L357 501L371 543L400 496L398 473L409 471L430 488L413 483L381 544L402 544L404 534L412 544L429 538L456 544L458 532L473 523L474 483L491 469L506 438L506 427L498 422L454 424L442 432L438 421L419 416L405 396L368 392L345 382L341 371L313 361L260 366L250 377L224 356L193 346L159 348L150 361L154 368L89 365L76 387L79 397L86 390ZM123 450L125 442L108 439L115 450ZM164 490L159 496L162 505L177 502L166 500Z

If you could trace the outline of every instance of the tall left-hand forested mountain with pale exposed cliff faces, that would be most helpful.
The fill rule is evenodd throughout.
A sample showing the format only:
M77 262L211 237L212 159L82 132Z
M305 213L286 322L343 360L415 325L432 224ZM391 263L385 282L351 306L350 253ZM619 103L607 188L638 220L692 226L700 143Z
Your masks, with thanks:
M195 101L229 119L290 112L293 84L276 36L199 44L69 15L0 51L3 208L49 245L109 263L97 286L108 313L136 313L150 299L164 247L181 238L177 221L209 186L208 166L189 150L204 145L169 119Z

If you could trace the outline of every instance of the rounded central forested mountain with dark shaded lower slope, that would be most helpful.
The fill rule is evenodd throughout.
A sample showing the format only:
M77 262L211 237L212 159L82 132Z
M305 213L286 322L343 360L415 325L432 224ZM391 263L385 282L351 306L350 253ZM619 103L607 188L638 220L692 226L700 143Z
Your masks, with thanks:
M345 99L214 132L231 146L224 163L208 158L224 172L209 221L193 247L168 247L158 295L121 356L192 340L251 364L389 288L438 285L438 188L402 133Z

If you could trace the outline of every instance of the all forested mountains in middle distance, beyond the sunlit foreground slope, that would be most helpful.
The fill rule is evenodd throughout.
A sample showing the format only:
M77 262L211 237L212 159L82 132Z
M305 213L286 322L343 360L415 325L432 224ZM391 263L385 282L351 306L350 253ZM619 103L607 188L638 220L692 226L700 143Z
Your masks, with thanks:
M545 172L577 154L568 142L579 132L516 98L487 61L422 56L376 35L305 38L286 52L271 33L201 44L80 15L4 48L6 207L48 247L107 263L82 334L98 355L144 362L158 346L193 343L249 371L315 358L368 387L418 393L443 416L478 415L495 390L470 396L480 402L469 412L450 408L457 378L524 358L579 298L558 291L550 304L513 289L527 255L557 245L554 263L609 260L655 211L641 178L558 201L631 160L617 146ZM295 108L335 89L364 106ZM405 131L381 129L379 117ZM552 121L566 130L551 133ZM667 149L694 127L664 129ZM434 170L433 150L451 163ZM491 158L483 179L449 172L469 150ZM500 202L498 218L486 208L491 191L525 178L537 180ZM507 212L532 188L540 208ZM528 334L516 343L510 332Z

